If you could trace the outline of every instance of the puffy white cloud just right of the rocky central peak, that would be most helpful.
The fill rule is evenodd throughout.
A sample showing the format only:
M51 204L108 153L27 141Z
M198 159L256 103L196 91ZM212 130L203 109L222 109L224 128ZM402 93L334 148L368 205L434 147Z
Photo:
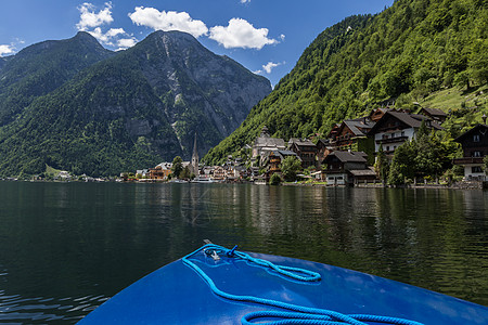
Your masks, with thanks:
M262 49L274 44L275 39L268 38L268 28L254 28L252 24L242 18L232 18L227 27L215 26L210 28L210 39L216 40L226 49Z

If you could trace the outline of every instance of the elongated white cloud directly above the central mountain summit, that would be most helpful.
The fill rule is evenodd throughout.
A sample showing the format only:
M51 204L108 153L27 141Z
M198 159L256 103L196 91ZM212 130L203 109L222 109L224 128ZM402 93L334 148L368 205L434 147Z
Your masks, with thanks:
M193 20L187 12L166 12L154 8L137 6L129 17L138 26L146 26L154 30L180 30L196 38L208 32L204 22Z

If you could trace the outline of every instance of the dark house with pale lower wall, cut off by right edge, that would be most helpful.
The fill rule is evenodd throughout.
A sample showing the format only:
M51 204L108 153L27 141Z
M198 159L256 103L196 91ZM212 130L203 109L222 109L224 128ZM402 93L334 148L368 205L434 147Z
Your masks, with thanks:
M465 180L485 180L484 158L488 156L488 126L477 125L457 139L463 148L463 157L452 162L464 167Z

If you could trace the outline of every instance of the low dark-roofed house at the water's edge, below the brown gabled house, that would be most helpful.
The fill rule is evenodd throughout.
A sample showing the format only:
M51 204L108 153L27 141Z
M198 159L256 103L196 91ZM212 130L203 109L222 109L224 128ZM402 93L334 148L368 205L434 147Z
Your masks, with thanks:
M326 165L325 173L328 184L352 185L363 181L374 181L376 173L368 167L367 154L362 152L336 151L329 154L322 161Z

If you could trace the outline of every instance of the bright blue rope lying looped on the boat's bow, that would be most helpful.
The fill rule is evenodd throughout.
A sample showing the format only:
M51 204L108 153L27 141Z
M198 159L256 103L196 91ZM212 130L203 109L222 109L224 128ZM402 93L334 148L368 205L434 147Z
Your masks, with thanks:
M251 257L249 255L236 251L236 247L232 250L227 249L222 246L218 246L215 244L205 245L197 250L187 255L181 260L184 264L193 269L196 273L200 274L204 278L204 281L208 284L210 289L217 296L220 296L226 299L234 300L234 301L245 301L245 302L254 302L275 308L285 309L293 312L281 312L281 311L262 311L262 312L253 312L247 315L244 315L241 320L242 324L255 324L252 323L253 320L258 318L281 318L281 321L273 321L266 323L268 325L281 325L281 324L317 324L317 325L336 325L336 324L351 324L351 325L367 325L364 322L374 322L374 323L384 323L384 324L395 324L395 325L423 325L422 323L388 317L388 316L376 316L376 315L345 315L338 312L319 309L319 308L310 308L304 306L297 306L292 303L286 303L282 301L258 298L254 296L237 296L224 292L220 290L214 283L214 281L201 269L198 265L193 263L190 260L190 257L197 253L198 251L204 251L205 253L211 256L214 252L217 255L223 253L227 256L233 256L234 258L241 258L243 260L247 260L249 262L256 263L261 266L271 268L277 271L279 274L288 276L294 280L304 281L304 282L317 282L320 281L320 274L291 266L275 265L269 261L256 259ZM262 324L262 323L261 323Z

